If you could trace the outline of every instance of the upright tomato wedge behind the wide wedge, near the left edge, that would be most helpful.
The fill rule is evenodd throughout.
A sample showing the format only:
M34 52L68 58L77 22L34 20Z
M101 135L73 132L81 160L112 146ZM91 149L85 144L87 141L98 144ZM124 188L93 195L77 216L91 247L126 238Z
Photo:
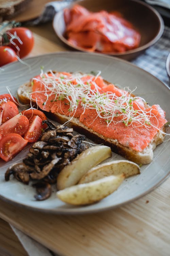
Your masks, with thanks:
M19 113L17 105L12 101L2 104L1 108L3 109L2 123L5 123Z

